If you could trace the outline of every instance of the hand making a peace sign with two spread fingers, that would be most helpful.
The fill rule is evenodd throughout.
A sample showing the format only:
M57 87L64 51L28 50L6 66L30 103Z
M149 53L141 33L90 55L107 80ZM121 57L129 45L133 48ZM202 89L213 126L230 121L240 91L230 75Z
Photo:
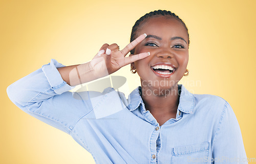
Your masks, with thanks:
M90 62L91 68L97 73L98 77L103 77L116 72L121 67L132 62L146 58L150 55L150 52L143 52L130 57L125 57L126 54L134 49L136 45L145 39L145 37L146 34L140 35L122 50L119 50L119 46L117 44L103 44L100 51Z

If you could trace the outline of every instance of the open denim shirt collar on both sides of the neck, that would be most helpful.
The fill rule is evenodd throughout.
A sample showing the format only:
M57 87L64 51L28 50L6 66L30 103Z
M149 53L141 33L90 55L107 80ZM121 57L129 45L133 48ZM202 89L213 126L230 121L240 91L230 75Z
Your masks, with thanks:
M184 113L193 114L195 106L195 97L190 93L182 84L178 85L180 91L180 102L178 105L178 110ZM130 111L134 111L138 108L140 104L144 106L143 100L141 98L141 87L137 87L128 97L128 107ZM145 112L145 108L142 108Z

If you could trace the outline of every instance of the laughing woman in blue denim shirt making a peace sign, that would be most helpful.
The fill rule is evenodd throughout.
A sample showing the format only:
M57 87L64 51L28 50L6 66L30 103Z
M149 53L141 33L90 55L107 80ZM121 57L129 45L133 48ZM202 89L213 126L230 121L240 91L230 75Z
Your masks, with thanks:
M104 44L92 61L68 67L52 59L7 93L26 113L70 134L96 163L242 163L242 135L229 103L178 85L188 73L188 45L185 23L154 11L135 23L124 49ZM127 64L141 78L127 100L113 88L68 92Z

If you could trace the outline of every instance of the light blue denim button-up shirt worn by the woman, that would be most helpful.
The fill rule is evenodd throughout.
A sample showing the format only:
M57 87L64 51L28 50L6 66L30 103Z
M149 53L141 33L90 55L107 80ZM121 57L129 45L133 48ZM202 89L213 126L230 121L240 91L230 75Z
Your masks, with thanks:
M145 109L136 88L126 99L109 87L102 93L70 92L51 63L7 88L29 115L72 136L96 163L247 163L241 130L223 98L192 94L183 85L176 118L163 125Z

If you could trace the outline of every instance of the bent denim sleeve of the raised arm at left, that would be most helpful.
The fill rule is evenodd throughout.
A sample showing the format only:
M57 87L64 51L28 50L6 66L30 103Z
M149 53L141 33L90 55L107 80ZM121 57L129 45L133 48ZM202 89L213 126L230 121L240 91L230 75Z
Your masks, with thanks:
M75 123L92 110L90 99L80 98L58 72L64 65L51 63L8 86L10 100L29 115L68 134Z

